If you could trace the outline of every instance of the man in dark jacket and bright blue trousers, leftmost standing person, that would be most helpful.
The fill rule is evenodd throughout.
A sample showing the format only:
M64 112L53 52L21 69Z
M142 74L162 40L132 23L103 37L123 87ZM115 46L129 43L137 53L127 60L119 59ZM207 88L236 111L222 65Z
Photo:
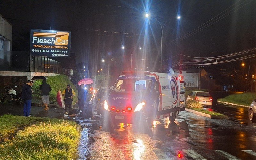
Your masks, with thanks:
M28 80L26 84L22 86L21 99L24 101L23 114L26 117L30 117L31 101L32 101L32 85L33 81Z

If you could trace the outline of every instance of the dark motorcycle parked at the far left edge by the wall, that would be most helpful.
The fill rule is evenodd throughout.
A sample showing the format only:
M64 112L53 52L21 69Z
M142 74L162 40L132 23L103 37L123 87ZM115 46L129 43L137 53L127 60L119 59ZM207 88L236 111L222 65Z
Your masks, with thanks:
M17 87L17 86L15 86ZM8 102L9 104L17 104L21 105L23 104L23 101L21 100L21 93L16 92L12 88L5 87L5 94L2 96L0 103L4 103L6 98L9 98Z

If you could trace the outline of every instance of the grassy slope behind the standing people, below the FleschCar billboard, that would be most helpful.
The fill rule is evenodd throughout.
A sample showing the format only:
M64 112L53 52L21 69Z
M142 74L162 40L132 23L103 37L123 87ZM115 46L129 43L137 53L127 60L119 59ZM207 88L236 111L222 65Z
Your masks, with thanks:
M56 101L57 92L60 90L61 92L67 88L67 85L70 84L71 88L75 91L76 96L73 98L73 104L77 101L77 89L75 85L69 80L66 75L58 75L58 76L48 76L47 83L50 84L52 91L49 93L50 100ZM32 90L34 91L33 97L42 98L41 91L39 90L39 85L42 84L42 80L36 80L33 84Z

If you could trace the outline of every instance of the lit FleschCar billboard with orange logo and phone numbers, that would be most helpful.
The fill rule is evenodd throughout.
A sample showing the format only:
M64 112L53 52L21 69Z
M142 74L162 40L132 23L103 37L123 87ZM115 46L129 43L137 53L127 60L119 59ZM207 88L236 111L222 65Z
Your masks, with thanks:
M30 31L30 55L70 57L71 32L55 30Z

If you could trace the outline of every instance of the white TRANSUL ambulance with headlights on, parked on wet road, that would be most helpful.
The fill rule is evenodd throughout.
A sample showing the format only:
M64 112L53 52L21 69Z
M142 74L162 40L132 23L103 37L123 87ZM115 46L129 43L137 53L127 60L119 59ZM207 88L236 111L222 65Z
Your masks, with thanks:
M112 124L135 123L143 115L147 124L185 110L185 82L177 73L123 72L104 101ZM141 119L141 118L140 118Z

